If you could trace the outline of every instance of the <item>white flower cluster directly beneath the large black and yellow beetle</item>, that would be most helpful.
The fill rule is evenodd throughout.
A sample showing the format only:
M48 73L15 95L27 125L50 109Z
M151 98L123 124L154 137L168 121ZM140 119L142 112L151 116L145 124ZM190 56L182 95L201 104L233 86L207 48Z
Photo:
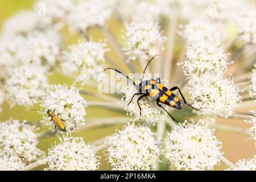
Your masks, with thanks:
M126 104L131 101L131 98L135 93L138 93L133 85L127 86L127 89L123 89L122 92L125 93L125 96L122 97L122 101L124 101ZM129 106L125 107L127 114L135 115L137 118L140 116L140 110L137 104L138 97L139 96L134 96L133 101L129 104ZM142 109L141 117L146 117L147 123L155 125L156 122L163 118L164 111L158 105L156 105L155 100L144 97L141 101L139 101L139 105Z

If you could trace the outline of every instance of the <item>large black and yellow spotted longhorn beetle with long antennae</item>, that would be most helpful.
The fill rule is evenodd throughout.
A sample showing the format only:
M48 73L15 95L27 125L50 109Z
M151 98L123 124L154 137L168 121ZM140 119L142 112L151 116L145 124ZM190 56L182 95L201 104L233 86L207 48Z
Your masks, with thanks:
M145 80L143 81L144 78L144 74L146 72L146 69L148 67L148 65L151 63L151 61L159 55L155 55L154 57L152 57L152 59L150 61L148 61L146 67L144 68L143 71L143 75L142 75L142 81L141 83L139 83L138 85L135 84L135 82L133 80L131 80L131 78L129 78L128 76L126 76L124 73L118 71L117 69L114 68L105 68L104 71L106 71L107 69L113 69L114 71L121 73L123 76L125 76L128 80L130 80L131 82L133 82L133 85L135 86L135 88L137 89L137 93L135 93L133 95L133 97L131 97L131 101L129 102L129 104L133 101L134 96L139 96L137 98L137 104L139 106L140 109L140 118L141 118L141 106L139 105L139 101L143 98L143 97L150 97L152 100L156 101L156 104L161 107L164 111L166 111L166 113L168 113L168 111L162 106L160 105L160 103L171 106L171 107L175 107L176 109L181 110L181 102L179 100L179 98L172 93L172 91L174 90L179 90L181 97L183 98L184 104L187 104L188 106L192 107L193 109L196 109L195 107L189 105L187 103L187 101L185 100L183 94L181 93L179 87L174 86L171 89L166 88L165 86L163 86L161 84L160 78L156 78L155 80L153 78L151 78L150 80ZM129 105L128 104L128 105ZM199 109L196 109L199 110ZM174 117L172 117L172 115L170 113L168 113L168 115L170 115L170 117L179 123L179 121L177 121Z

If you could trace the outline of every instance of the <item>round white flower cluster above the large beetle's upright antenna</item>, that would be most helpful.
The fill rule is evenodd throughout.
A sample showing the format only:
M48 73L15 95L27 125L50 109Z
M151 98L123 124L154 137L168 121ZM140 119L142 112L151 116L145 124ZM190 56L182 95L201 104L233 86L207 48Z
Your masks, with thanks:
M160 26L151 20L134 19L126 23L123 32L125 47L123 51L128 61L135 59L149 59L164 50L166 37L162 36Z

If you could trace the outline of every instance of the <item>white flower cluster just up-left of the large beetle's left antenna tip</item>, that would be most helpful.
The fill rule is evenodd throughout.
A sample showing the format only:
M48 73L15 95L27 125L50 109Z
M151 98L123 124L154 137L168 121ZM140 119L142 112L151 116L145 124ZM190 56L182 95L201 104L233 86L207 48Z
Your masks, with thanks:
M64 52L64 61L61 63L63 72L66 75L79 73L76 81L86 84L89 78L100 81L100 75L104 69L104 53L108 51L103 42L80 42L77 45L69 46L69 51Z

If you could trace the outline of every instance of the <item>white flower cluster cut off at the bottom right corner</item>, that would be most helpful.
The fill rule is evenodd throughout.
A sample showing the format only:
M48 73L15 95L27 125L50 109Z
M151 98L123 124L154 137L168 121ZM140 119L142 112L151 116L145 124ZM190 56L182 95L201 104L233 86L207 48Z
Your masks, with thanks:
M232 169L228 168L228 171ZM256 170L256 155L252 159L241 159L236 163L236 167L233 169L234 171L255 171Z

